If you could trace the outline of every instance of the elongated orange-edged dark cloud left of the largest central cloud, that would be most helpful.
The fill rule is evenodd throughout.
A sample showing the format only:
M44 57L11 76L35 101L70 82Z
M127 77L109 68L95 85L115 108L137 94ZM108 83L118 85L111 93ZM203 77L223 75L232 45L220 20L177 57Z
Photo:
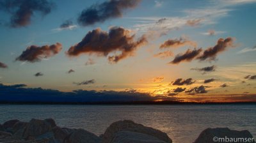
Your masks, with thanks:
M41 61L41 59L52 57L58 54L62 50L61 43L56 43L53 45L44 45L38 47L36 45L29 46L22 54L16 58L16 61L28 61L31 63Z

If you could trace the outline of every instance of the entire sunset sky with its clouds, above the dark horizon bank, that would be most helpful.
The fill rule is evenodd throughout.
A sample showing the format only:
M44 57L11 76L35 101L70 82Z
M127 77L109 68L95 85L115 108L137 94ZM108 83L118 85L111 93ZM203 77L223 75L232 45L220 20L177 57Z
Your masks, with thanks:
M256 102L255 13L256 0L0 0L0 95Z

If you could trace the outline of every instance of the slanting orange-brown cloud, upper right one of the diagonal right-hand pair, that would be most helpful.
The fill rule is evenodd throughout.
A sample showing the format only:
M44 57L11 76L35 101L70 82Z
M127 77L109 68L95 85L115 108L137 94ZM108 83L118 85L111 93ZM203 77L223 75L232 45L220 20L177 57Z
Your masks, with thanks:
M214 47L209 47L204 50L204 53L199 56L198 59L200 59L200 61L205 61L206 59L212 61L216 59L216 56L220 52L227 50L228 47L234 47L234 39L230 37L226 39L220 38Z

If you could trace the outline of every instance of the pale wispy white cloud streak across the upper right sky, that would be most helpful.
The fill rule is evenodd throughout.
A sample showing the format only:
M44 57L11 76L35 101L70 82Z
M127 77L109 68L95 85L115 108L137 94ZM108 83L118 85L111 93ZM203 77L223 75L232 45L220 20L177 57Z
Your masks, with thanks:
M255 0L224 0L212 1L210 6L203 8L194 8L182 10L183 17L128 17L128 19L143 20L143 23L135 24L134 28L143 33L154 33L154 36L162 36L174 29L180 29L184 26L205 26L216 24L219 19L227 17L231 8L238 4L255 3ZM161 21L161 22L159 22ZM214 34L221 34L224 31L214 31ZM202 33L209 34L209 33Z

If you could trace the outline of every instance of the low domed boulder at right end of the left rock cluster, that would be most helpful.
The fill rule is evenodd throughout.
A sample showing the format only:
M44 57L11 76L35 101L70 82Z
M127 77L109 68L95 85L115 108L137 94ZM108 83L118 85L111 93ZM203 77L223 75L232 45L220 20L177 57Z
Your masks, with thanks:
M86 130L77 129L74 130L68 137L64 140L64 143L99 143L101 139Z

